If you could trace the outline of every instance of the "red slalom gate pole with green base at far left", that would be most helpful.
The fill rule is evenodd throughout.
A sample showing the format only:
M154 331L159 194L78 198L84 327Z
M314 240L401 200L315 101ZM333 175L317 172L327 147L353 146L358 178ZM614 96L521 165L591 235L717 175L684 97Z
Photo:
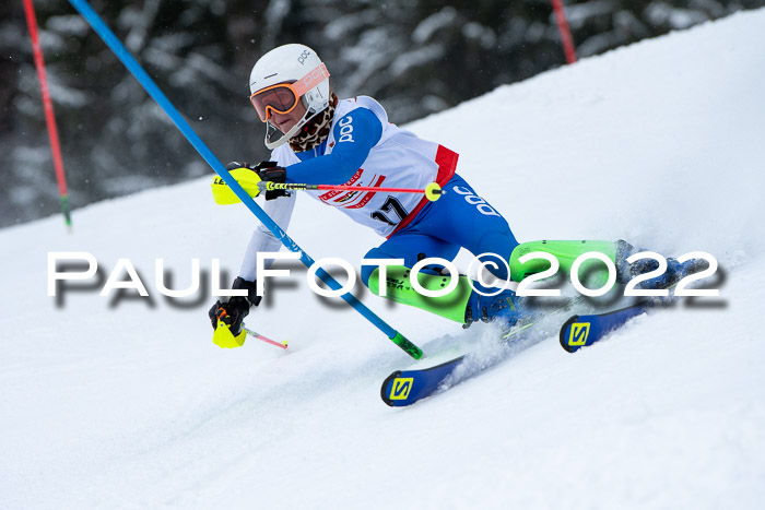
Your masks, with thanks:
M48 75L45 72L45 60L43 60L43 49L39 45L39 35L37 31L37 19L35 17L35 8L32 0L24 0L24 12L26 13L26 24L30 27L30 37L32 38L32 49L35 57L35 68L37 69L37 80L39 81L39 90L43 95L43 107L45 109L45 123L48 126L48 138L50 139L50 152L54 156L54 168L56 169L56 180L58 181L58 191L61 197L61 213L67 227L72 228L72 218L69 214L69 195L67 194L67 178L63 174L63 162L61 159L61 146L58 140L58 129L56 128L56 116L54 116L54 105L50 102L50 92L48 90Z

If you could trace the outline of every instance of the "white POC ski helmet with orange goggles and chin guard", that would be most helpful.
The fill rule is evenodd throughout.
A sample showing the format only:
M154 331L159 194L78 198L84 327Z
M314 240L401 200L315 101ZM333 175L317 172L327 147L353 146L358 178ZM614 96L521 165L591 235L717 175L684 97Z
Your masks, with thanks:
M329 72L316 51L304 45L280 46L260 57L250 72L249 90L250 102L266 122L266 146L271 150L297 134L330 102ZM287 114L298 100L306 112L290 131L282 133L271 123L271 112Z

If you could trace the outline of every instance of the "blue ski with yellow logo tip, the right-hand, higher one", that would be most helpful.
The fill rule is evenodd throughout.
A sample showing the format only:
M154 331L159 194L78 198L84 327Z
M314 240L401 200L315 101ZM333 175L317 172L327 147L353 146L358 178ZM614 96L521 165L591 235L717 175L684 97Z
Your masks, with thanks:
M644 301L605 313L572 316L561 327L561 346L569 353L575 353L581 347L592 345L633 317L645 313L646 308L647 304Z

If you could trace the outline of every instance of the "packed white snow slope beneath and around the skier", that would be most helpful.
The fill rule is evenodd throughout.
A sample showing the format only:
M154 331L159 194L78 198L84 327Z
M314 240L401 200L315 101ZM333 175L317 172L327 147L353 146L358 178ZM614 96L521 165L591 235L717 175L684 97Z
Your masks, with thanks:
M410 126L460 153L520 240L703 250L725 273L720 298L574 355L546 339L410 408L379 386L411 360L297 265L247 319L289 352L212 344L212 259L227 284L255 221L214 205L211 178L78 210L71 235L60 217L0 232L0 508L762 508L763 33L765 11L737 14ZM290 234L354 264L381 241L306 197ZM128 258L151 299L93 280L48 297L50 251L92 253L104 278ZM173 288L200 259L203 288L165 299L156 259ZM357 292L426 352L490 331Z

